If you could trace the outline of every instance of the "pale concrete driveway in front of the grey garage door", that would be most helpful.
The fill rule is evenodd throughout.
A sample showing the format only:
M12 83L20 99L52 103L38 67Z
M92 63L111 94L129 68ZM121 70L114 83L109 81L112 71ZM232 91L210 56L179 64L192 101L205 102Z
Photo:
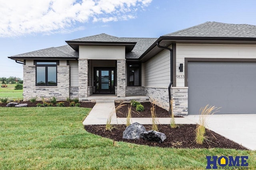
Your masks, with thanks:
M199 115L187 119L198 122ZM256 114L208 115L208 129L250 149L256 150Z

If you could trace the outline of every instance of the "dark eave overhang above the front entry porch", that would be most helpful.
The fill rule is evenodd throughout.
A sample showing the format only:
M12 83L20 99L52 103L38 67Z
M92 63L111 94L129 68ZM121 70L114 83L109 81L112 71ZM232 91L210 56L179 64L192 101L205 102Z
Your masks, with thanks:
M136 42L102 42L102 41L66 41L72 49L75 51L79 50L80 45L90 45L90 46L125 46L125 52L128 53L132 51Z

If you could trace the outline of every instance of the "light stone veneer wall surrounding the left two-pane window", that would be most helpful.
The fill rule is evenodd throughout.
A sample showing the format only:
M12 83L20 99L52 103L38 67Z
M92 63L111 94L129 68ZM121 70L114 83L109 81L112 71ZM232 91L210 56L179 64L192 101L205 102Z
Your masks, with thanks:
M69 97L69 66L57 66L57 86L36 86L36 66L23 66L23 100L41 97L66 100Z

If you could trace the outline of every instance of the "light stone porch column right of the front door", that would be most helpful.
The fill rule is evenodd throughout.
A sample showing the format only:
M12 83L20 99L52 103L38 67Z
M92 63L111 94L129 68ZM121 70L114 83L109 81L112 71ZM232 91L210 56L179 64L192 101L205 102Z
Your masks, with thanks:
M125 59L117 60L117 97L125 97L126 74L125 74Z

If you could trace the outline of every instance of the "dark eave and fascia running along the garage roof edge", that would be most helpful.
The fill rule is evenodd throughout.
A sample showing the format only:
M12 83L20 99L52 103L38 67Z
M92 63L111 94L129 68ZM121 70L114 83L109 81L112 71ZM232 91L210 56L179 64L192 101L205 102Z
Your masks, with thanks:
M156 43L169 47L173 43L198 43L198 44L256 44L256 38L250 37L177 37L162 36L156 40L140 57L139 60L146 62L164 49L158 48Z

